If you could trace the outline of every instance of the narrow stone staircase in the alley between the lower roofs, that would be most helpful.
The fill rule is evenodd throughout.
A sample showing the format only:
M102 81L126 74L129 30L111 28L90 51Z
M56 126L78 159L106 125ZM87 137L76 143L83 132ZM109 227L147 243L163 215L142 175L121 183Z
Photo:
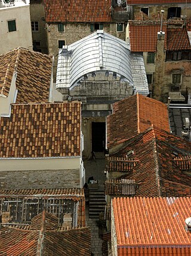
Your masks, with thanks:
M89 190L89 218L98 219L106 206L104 187Z

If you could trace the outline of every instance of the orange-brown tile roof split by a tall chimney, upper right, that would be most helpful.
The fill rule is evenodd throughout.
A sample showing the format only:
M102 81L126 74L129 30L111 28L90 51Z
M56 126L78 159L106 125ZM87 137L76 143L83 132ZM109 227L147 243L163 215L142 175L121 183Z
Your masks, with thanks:
M181 25L182 21L165 21L162 27L165 32L165 50L190 50L187 28L170 28L170 25ZM160 22L130 20L131 52L156 52Z

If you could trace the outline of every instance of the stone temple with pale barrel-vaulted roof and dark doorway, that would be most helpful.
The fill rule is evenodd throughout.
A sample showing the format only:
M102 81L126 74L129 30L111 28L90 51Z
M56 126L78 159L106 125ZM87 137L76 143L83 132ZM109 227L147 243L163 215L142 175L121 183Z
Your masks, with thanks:
M103 30L60 50L56 89L63 100L82 102L85 158L104 151L112 103L136 92L149 94L143 57Z

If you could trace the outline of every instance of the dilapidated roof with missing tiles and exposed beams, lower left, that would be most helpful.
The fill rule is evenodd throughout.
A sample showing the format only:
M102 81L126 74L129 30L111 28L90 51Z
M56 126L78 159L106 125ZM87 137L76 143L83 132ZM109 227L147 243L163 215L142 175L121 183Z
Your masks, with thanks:
M17 204L17 207L13 206L11 208L11 214L7 213L7 207L11 207L13 202ZM75 213L76 204L78 204L78 210ZM44 209L47 210L47 213L54 212L54 215L58 218L58 223L62 225L62 227L66 226L66 224L63 223L63 215L65 213L70 213L72 216L76 214L76 222L73 222L71 219L71 225L84 227L84 189L60 188L0 190L0 216L2 216L2 222L6 224L30 223L31 219L41 213ZM36 217L33 218L33 222L36 223Z

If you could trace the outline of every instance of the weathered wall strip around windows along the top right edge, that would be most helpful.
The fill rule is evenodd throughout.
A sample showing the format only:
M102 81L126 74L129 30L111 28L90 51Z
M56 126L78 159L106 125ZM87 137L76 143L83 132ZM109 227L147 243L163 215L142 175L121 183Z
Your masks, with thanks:
M153 19L158 16L158 11L161 14L161 10L164 10L164 19L167 19L168 16L168 8L170 7L181 7L181 15L187 15L187 17L191 18L191 4L161 4L161 5L134 5L134 19L136 16L140 16L141 8L149 7L149 19ZM186 8L187 7L187 8Z

